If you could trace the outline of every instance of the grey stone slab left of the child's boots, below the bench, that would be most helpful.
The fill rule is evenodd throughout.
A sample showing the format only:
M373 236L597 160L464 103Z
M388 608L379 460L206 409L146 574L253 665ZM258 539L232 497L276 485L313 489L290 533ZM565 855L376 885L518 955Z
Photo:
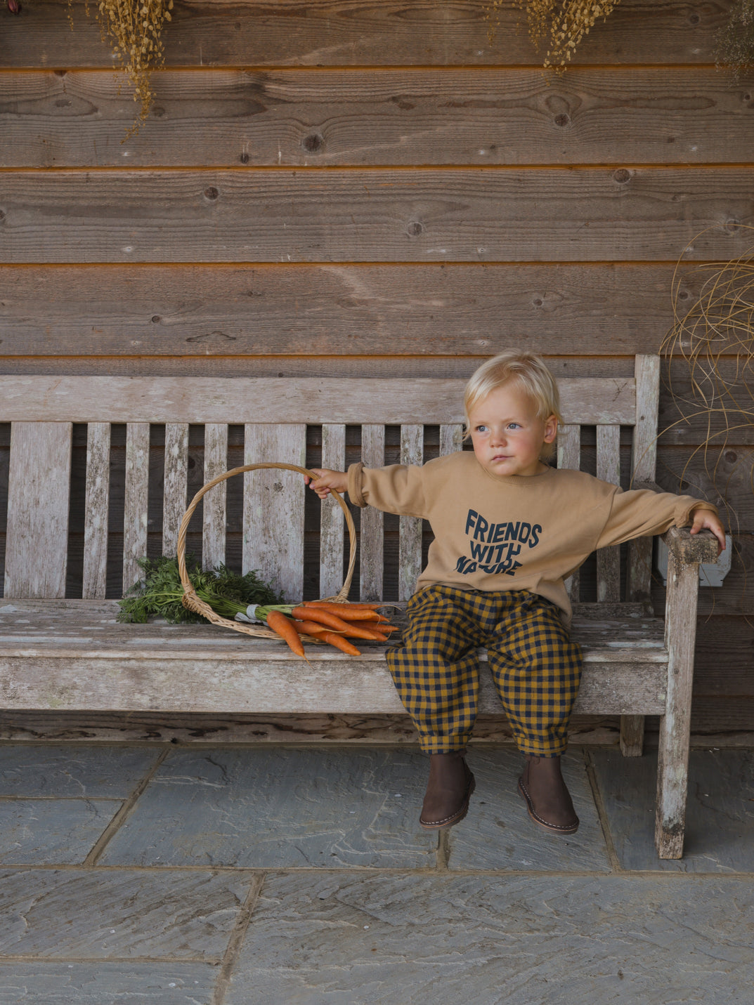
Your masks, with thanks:
M426 771L414 751L175 751L101 862L433 868Z

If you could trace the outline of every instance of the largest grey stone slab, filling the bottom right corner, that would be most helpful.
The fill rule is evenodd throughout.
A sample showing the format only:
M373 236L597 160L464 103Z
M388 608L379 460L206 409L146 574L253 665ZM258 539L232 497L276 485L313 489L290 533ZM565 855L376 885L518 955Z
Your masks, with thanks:
M734 876L274 874L224 1005L742 1005L753 925Z

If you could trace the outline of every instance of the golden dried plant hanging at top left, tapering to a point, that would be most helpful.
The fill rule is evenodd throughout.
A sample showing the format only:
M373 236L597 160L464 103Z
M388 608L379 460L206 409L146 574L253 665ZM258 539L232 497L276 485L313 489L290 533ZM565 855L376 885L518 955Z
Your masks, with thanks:
M68 10L70 4L71 0L68 0ZM118 59L117 68L125 71L130 78L134 86L134 100L141 106L125 140L139 132L139 127L149 115L155 96L152 71L165 65L162 29L165 22L171 20L172 9L173 0L97 0L97 17L103 41L106 44L110 42ZM85 10L88 15L88 0Z

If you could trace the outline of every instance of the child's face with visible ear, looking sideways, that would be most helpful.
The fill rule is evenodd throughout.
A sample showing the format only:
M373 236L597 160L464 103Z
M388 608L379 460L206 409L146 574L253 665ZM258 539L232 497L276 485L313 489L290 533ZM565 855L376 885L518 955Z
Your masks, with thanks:
M558 431L554 415L537 416L537 406L515 381L496 388L469 411L472 442L480 464L491 474L539 474L545 443Z

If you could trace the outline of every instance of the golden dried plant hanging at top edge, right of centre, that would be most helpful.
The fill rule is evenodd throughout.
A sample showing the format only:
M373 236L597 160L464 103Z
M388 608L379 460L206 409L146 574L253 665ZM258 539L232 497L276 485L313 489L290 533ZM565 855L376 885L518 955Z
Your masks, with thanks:
M495 39L500 23L500 9L506 0L491 0L487 8L488 38ZM513 0L515 7L526 11L529 35L537 52L545 46L544 66L563 70L570 62L584 35L598 18L611 14L620 0Z

